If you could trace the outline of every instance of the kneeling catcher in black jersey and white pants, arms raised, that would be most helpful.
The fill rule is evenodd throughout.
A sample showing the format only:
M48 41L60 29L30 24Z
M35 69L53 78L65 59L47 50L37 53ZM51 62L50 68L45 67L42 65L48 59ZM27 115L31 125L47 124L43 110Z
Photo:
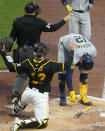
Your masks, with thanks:
M68 43L70 50L69 59L65 63L57 63L45 58L47 47L43 43L34 45L35 59L26 59L20 64L13 66L3 56L10 71L25 72L29 80L29 86L22 94L21 101L15 105L12 114L16 115L22 111L27 104L33 104L35 118L27 120L16 119L13 131L23 128L45 128L48 125L49 117L49 92L51 91L50 82L54 73L69 69L73 62L75 45Z

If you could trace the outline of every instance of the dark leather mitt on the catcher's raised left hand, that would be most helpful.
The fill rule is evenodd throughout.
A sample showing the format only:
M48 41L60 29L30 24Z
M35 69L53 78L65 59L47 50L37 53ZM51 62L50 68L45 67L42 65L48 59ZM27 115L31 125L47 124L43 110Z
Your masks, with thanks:
M11 47L13 45L13 39L9 36L0 39L0 51L3 50L4 53L10 52Z

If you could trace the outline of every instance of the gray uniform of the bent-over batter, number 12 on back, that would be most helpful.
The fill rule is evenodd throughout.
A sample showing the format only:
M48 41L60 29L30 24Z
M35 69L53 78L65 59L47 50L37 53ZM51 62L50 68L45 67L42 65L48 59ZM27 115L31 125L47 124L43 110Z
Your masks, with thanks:
M73 59L74 65L80 61L80 57L82 57L85 53L88 53L90 56L92 56L92 58L96 57L97 50L90 41L79 34L68 34L59 39L58 62L65 62L65 60L68 58L66 55L69 52L68 45L70 40L73 40L76 44Z

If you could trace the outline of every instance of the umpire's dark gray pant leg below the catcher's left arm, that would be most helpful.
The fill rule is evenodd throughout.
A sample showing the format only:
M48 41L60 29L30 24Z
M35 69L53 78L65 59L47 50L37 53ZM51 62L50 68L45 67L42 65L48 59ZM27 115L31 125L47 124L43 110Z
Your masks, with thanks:
M22 88L23 88L23 85L25 83L27 79L27 74L26 73L21 73L21 74L18 74L15 78L15 83L14 83L14 87L12 89L12 93L14 94L15 92L18 92L21 94L22 92Z

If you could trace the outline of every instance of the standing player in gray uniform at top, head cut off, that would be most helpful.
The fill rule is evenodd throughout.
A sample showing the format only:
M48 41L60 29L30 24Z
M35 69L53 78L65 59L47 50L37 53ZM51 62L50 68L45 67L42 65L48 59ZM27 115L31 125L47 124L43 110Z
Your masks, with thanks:
M94 0L61 0L67 11L73 13L72 20L69 21L69 33L79 33L90 40L91 22L90 8L93 7Z

